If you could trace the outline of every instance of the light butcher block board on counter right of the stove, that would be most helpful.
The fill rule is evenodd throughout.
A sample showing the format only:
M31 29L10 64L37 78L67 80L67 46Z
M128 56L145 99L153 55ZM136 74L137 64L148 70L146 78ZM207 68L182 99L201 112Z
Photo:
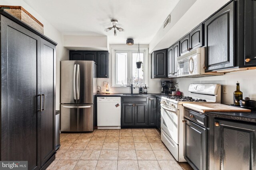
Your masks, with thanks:
M225 104L218 104L218 103L184 103L184 107L188 107L190 109L193 109L195 111L199 111L201 113L204 112L250 112L250 109L244 109L240 107L234 107L234 106L228 106Z

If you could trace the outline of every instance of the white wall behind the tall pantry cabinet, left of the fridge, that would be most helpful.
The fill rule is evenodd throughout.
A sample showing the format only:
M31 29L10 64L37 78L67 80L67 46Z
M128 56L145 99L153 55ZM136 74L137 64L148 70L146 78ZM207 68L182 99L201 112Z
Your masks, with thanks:
M22 6L32 16L44 25L44 35L58 43L56 47L56 110L60 109L60 61L68 60L68 50L63 46L63 35L55 29L48 21L40 16L23 0L0 0L1 5Z

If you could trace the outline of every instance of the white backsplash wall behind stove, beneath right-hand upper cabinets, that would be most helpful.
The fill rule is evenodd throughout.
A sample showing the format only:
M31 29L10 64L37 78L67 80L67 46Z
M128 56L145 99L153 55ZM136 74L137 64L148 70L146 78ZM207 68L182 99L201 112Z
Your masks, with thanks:
M226 73L223 76L209 76L200 78L175 78L173 82L178 82L179 90L188 96L188 86L190 83L218 83L222 85L221 103L233 104L233 92L236 91L236 82L240 83L240 91L243 98L249 97L256 100L256 70L245 70ZM223 93L223 86L227 86L227 94Z

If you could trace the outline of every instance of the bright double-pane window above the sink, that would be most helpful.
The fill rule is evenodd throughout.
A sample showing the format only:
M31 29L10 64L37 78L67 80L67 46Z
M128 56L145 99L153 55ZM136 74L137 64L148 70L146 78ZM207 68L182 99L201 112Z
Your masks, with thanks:
M112 50L112 86L129 86L130 84L147 84L146 76L146 48L140 48L141 68L137 68L139 61L138 49L134 50ZM138 57L137 57L138 56Z

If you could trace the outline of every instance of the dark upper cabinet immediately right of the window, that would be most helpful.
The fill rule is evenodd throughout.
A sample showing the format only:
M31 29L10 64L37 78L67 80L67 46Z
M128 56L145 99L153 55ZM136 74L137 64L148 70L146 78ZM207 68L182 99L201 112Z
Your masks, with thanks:
M152 78L165 78L167 77L167 69L166 69L166 62L167 62L167 49L158 50L153 52L153 59L151 61L151 69L154 70L152 72Z

